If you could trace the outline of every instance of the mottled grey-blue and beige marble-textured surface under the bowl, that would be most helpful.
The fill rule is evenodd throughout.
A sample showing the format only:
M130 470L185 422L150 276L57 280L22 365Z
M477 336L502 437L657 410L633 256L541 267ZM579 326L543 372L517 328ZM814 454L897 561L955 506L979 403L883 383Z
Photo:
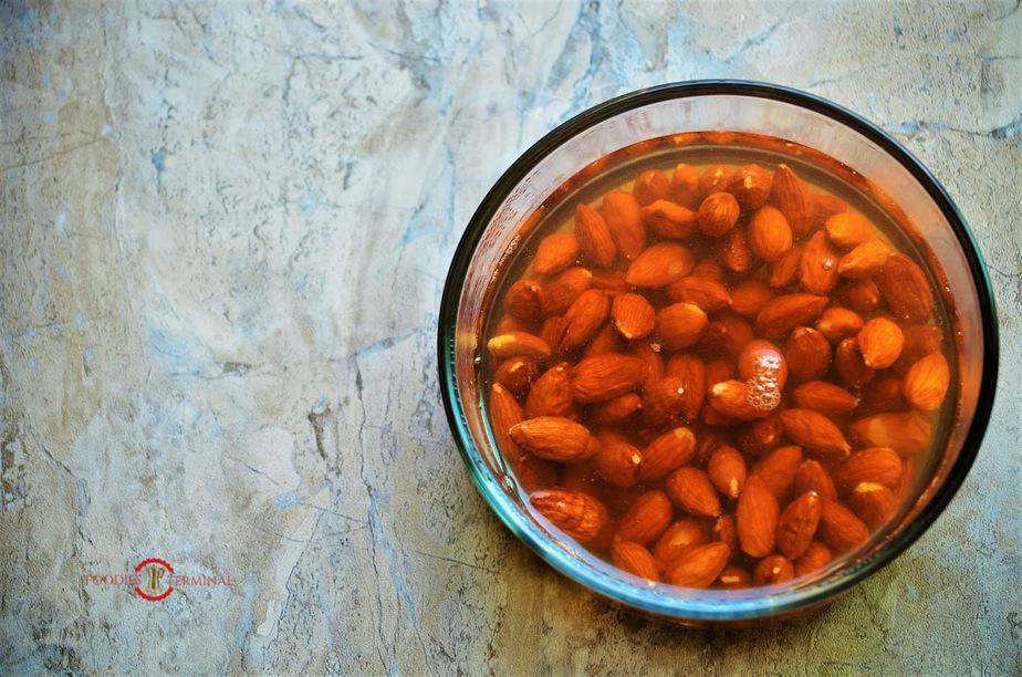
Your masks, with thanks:
M1018 2L0 4L0 669L1022 669ZM434 335L468 217L528 145L644 85L773 81L945 183L1001 313L953 503L810 618L615 611L490 513ZM148 604L153 554L229 574Z

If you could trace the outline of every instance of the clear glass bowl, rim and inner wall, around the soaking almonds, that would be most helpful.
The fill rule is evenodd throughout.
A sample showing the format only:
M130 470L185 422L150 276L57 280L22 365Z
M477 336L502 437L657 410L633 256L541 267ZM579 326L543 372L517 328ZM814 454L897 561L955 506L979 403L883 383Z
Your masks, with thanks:
M478 347L490 290L528 219L591 163L638 142L690 132L763 134L843 163L878 199L895 196L939 261L958 314L959 403L947 446L895 522L818 575L745 591L651 584L590 554L539 518L501 458L479 387ZM888 205L889 207L889 205ZM940 184L877 126L812 94L739 81L668 84L573 117L526 150L483 198L455 253L438 327L441 392L458 448L480 493L514 534L561 573L648 615L685 624L748 623L816 606L890 562L926 531L972 465L993 404L998 323L987 272L966 220Z

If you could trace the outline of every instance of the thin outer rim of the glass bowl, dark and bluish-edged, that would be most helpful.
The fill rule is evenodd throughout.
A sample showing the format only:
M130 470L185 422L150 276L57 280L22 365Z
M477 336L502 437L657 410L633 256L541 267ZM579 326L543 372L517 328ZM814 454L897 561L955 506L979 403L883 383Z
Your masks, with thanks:
M799 590L754 597L726 596L720 593L713 595L713 591L698 591L698 597L685 594L665 595L656 592L655 589L628 584L623 580L612 579L591 566L581 565L578 560L572 558L530 523L490 471L466 424L455 364L457 312L468 265L498 207L528 171L562 143L620 113L668 100L721 94L773 100L821 113L876 143L905 167L927 191L958 238L958 243L977 285L984 343L983 368L976 415L969 425L961 452L948 471L943 485L938 488L916 518L898 533L897 538L880 545L869 558L851 567L834 572L831 576ZM500 176L476 209L455 251L441 296L437 327L437 357L444 407L462 460L483 499L519 540L560 573L590 591L643 612L686 621L743 621L792 612L823 602L886 566L932 524L961 487L985 434L997 388L999 327L992 285L979 247L964 217L937 178L900 143L857 113L815 94L764 82L697 80L637 90L590 107L545 134Z

